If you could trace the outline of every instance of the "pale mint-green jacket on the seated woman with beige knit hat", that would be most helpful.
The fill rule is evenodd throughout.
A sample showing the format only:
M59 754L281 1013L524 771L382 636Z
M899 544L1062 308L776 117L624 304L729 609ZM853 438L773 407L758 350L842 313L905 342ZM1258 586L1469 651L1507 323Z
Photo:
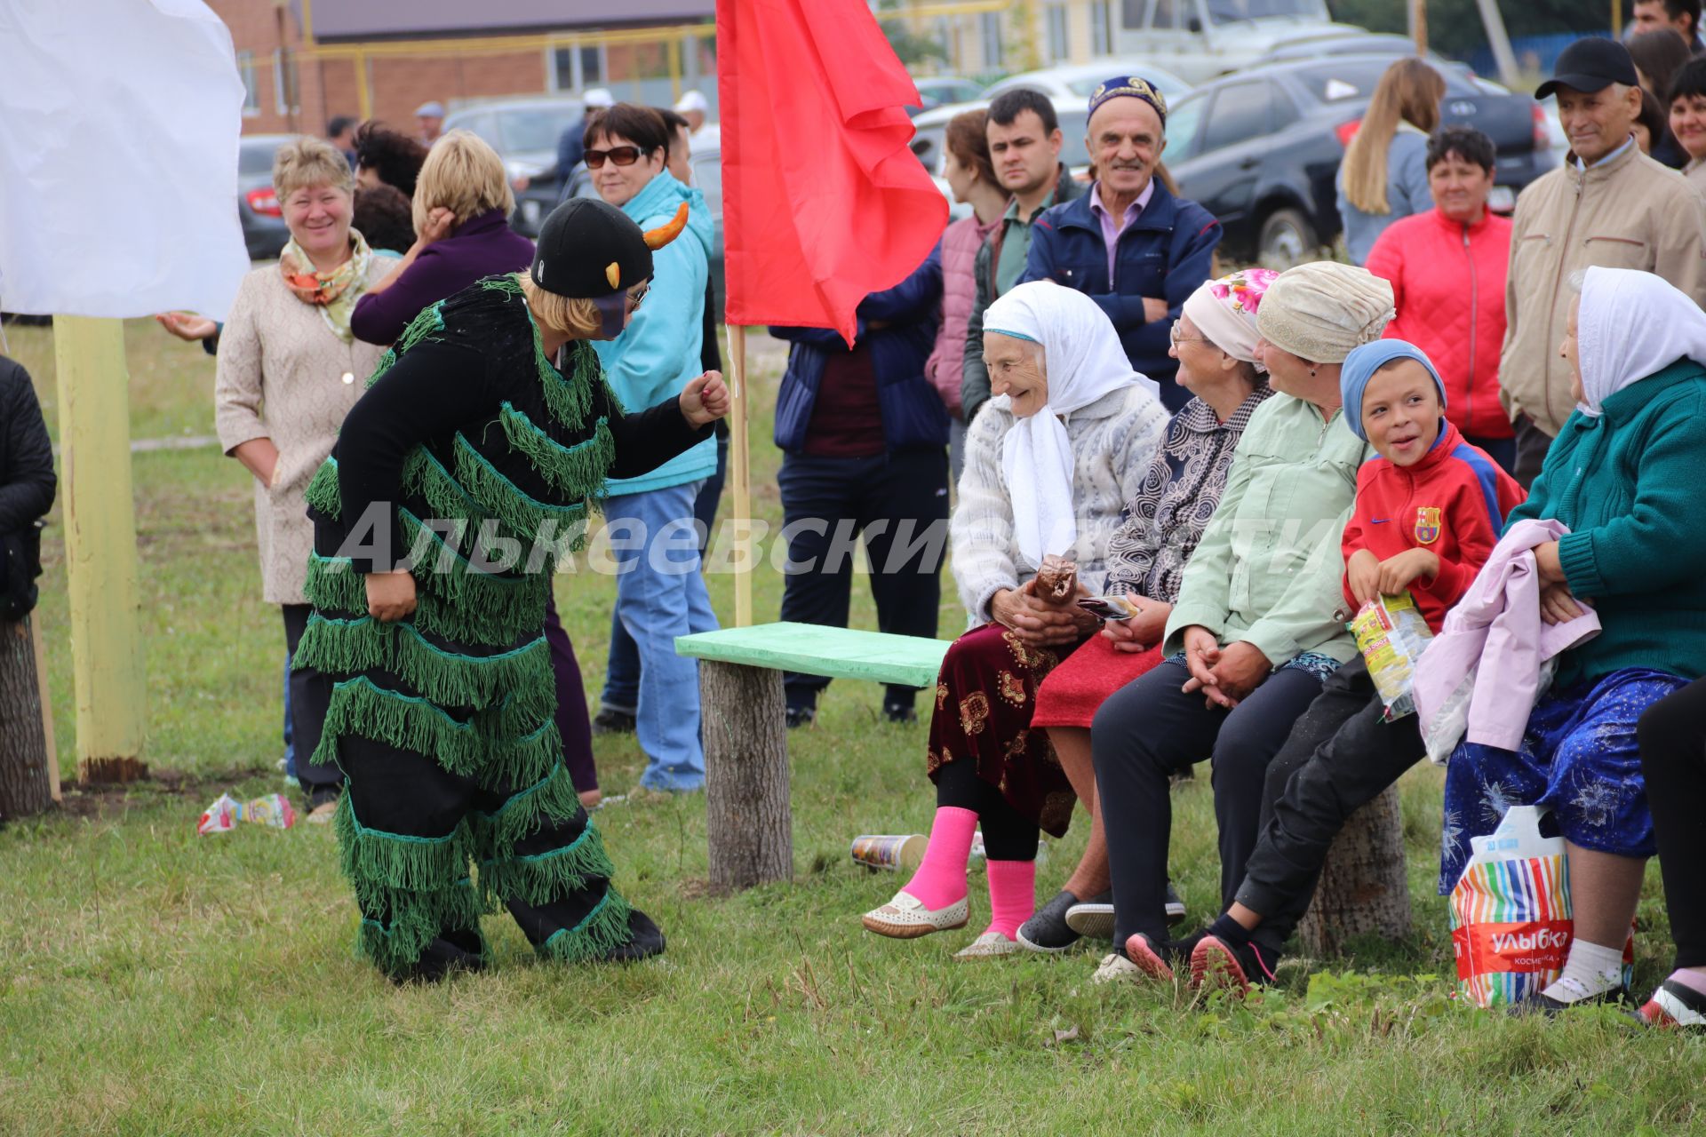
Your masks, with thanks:
M1239 440L1215 518L1184 568L1165 651L1201 624L1221 644L1245 641L1280 667L1305 651L1344 663L1339 539L1356 501L1356 467L1368 450L1341 411L1291 395L1256 409Z

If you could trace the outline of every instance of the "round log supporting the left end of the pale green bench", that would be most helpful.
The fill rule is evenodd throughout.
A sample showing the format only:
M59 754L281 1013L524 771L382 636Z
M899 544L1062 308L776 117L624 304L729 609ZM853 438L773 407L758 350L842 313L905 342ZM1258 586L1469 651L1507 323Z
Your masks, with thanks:
M711 886L793 880L781 672L699 660Z

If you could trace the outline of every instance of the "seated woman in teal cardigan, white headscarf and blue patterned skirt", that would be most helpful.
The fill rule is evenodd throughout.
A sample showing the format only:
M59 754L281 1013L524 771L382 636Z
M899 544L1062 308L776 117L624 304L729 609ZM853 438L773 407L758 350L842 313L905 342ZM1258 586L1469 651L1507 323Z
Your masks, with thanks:
M1464 743L1445 774L1440 892L1469 839L1513 805L1542 805L1570 856L1575 941L1539 997L1561 1011L1622 994L1622 944L1657 851L1636 723L1706 675L1706 315L1651 273L1590 268L1559 355L1576 411L1510 515L1570 534L1535 549L1547 624L1592 603L1602 632L1558 660L1517 752Z

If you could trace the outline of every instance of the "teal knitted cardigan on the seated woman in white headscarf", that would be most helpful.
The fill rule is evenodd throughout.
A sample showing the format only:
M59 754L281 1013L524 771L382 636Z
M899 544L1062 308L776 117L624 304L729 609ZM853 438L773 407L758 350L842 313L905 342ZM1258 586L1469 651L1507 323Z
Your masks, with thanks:
M1600 634L1558 660L1558 685L1626 667L1706 675L1706 368L1679 360L1566 421L1515 508L1570 527L1558 542L1570 592Z

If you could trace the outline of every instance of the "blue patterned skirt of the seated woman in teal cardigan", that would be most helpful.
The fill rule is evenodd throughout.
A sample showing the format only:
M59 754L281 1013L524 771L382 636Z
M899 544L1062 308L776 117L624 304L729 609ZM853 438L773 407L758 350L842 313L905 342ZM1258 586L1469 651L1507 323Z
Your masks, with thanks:
M1542 697L1529 714L1520 750L1460 743L1445 767L1440 895L1464 874L1469 839L1498 828L1513 805L1551 808L1541 832L1563 834L1583 849L1653 856L1658 849L1634 728L1646 707L1687 682L1624 668Z

